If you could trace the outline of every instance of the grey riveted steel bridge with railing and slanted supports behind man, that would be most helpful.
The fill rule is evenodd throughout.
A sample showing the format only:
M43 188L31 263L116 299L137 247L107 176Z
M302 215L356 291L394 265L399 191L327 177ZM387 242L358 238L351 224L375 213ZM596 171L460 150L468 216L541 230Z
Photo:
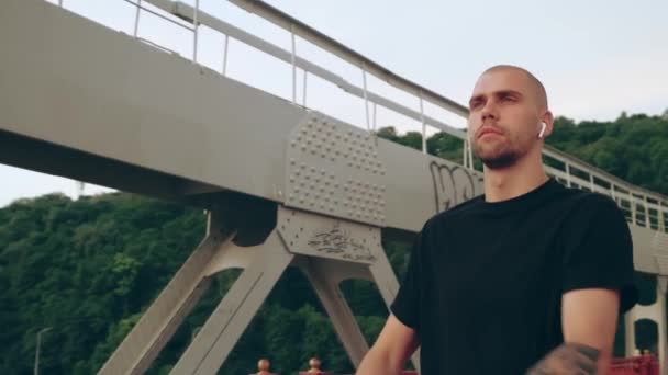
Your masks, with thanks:
M207 237L101 373L142 373L210 277L243 268L174 367L175 374L214 373L289 265L305 273L357 365L368 344L338 284L370 280L391 302L399 284L381 238L408 238L430 216L482 193L466 133L424 110L430 105L461 120L467 109L261 1L230 0L289 33L287 48L205 12L197 0L118 1L134 7L131 32L111 30L58 2L0 5L0 162L208 212ZM190 33L191 50L177 54L143 37L137 31L148 15ZM224 36L222 69L198 59L204 27ZM230 78L230 39L283 61L291 95ZM297 42L358 69L359 82L300 57ZM307 105L307 78L354 98L361 123ZM412 101L374 92L371 78ZM424 140L420 152L377 137L378 109L421 124L423 139L427 127L461 139L463 162L427 155ZM632 322L653 319L664 364L668 197L550 147L544 157L558 181L609 195L624 211L636 270L657 276L656 303L626 316L626 348L635 349Z

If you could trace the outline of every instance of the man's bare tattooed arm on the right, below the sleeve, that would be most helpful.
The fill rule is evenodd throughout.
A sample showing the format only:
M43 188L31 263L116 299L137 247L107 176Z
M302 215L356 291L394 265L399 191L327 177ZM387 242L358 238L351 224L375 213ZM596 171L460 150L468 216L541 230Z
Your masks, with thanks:
M564 344L527 375L604 375L610 367L620 309L619 292L577 289L561 297Z

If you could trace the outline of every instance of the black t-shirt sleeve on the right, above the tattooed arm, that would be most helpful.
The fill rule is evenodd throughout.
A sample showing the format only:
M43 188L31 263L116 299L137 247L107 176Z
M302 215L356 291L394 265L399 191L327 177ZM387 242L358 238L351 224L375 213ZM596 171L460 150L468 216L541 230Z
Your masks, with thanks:
M620 292L621 314L637 302L633 282L633 241L614 201L588 195L563 232L563 291L601 287Z

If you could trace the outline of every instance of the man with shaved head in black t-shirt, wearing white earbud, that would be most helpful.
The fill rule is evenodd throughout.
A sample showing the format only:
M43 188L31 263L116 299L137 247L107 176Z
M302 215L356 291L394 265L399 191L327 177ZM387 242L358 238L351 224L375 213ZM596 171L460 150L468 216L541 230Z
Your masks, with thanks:
M432 217L358 375L606 374L620 314L637 298L632 240L606 196L548 179L543 84L496 66L478 79L468 136L485 195Z

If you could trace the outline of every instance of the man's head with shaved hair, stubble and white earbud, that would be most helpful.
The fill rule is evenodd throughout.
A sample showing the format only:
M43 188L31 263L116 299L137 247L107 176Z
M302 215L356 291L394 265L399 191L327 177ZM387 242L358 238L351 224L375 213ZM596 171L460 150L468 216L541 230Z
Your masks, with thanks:
M485 166L501 169L525 157L541 157L553 115L545 88L525 69L498 65L487 69L469 100L468 137ZM543 137L538 137L545 123Z

